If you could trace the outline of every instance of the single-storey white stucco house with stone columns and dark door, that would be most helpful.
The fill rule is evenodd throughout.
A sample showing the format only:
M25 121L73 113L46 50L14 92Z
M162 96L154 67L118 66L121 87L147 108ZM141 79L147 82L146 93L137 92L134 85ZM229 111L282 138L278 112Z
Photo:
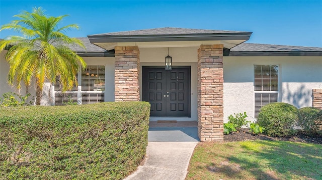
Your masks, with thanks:
M47 83L42 103L148 101L150 120L197 120L201 141L223 140L228 115L254 120L270 102L322 108L322 48L245 43L251 34L157 28L80 38L87 51L72 48L88 67L79 86L62 94ZM8 69L2 54L0 94L14 91Z

